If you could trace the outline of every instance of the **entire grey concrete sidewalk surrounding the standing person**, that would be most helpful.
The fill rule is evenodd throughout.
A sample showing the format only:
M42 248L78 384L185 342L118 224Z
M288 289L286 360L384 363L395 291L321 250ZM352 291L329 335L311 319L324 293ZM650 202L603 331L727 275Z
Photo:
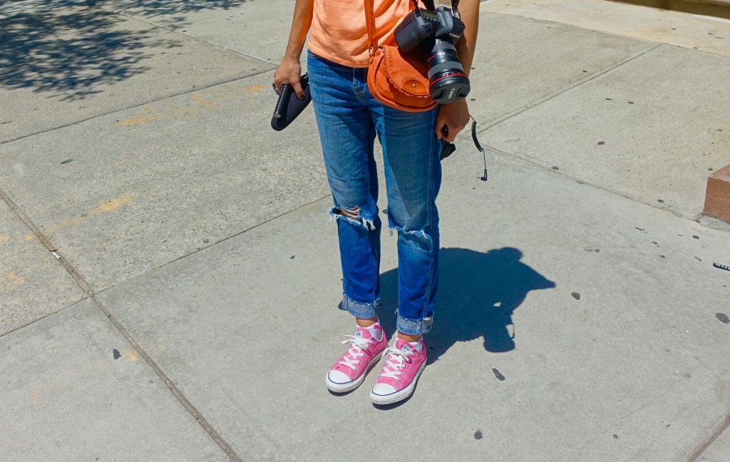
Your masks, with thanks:
M729 460L730 233L696 220L730 57L502 3L490 180L460 136L430 365L391 409L323 386L352 320L316 126L268 121L293 1L1 5L2 458ZM392 332L387 233L382 266Z

